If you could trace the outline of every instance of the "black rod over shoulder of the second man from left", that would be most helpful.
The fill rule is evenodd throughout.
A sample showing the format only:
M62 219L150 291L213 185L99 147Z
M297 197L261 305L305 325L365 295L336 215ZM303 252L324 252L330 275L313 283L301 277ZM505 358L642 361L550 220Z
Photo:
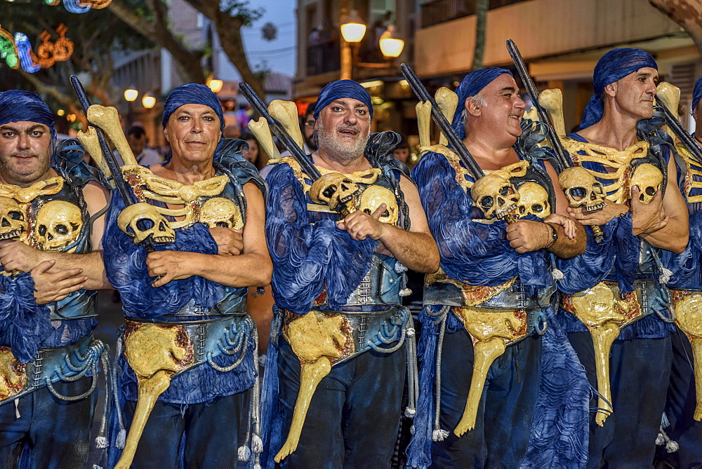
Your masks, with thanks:
M93 113L91 112L91 104L90 101L88 101L88 95L86 95L86 90L83 88L83 85L77 76L71 76L71 85L73 86L73 90L76 92L78 100L81 103L81 107L83 107L83 111L86 116L92 115ZM95 151L95 146L91 144L91 140L93 142L95 139L98 140L100 145L100 153L102 154L102 161L105 165L107 165L107 168L109 168L110 173L112 174L112 181L114 181L114 186L117 188L119 196L121 196L122 201L124 202L124 207L126 208L129 205L137 203L134 193L131 191L131 189L129 189L124 177L121 176L122 172L119 170L119 166L117 165L117 161L114 159L112 151L110 151L110 147L107 147L107 142L105 142L105 135L103 135L102 129L97 125L94 125L91 121L88 121L88 125L89 127L86 135L87 138L84 137L84 139L81 139L81 143L86 144L86 147L91 147L93 151ZM124 138L124 134L122 134L122 137ZM86 140L86 142L84 142L84 140ZM96 156L99 155L93 153L92 151L91 154ZM131 151L129 154L131 154ZM96 160L98 158L96 158ZM147 237L145 240L139 243L139 245L143 247L146 252L154 252L156 250L154 247L154 240L151 238L151 236ZM158 280L158 278L156 280Z

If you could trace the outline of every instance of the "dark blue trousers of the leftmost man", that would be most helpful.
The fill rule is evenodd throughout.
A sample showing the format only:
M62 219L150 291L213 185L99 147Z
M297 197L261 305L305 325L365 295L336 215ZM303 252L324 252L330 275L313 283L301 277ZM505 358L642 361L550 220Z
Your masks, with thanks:
M81 395L93 378L54 383L58 393ZM39 388L15 402L0 406L0 467L84 468L98 393L67 402ZM19 417L17 416L19 413Z

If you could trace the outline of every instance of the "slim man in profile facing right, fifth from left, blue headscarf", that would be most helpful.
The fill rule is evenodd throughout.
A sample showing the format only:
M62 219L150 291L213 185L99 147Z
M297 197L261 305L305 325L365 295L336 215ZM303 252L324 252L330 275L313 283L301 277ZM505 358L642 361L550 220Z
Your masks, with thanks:
M592 468L603 461L609 467L651 465L665 402L661 383L670 375L669 334L675 327L668 318L659 250L682 252L688 226L680 191L675 184L665 185L666 175L675 181L677 174L668 146L637 135L637 123L653 115L657 79L656 62L648 53L611 50L595 67L595 95L585 109L583 130L563 140L571 159L604 184L607 193L604 208L569 212L584 225L604 225L618 217L613 271L587 292L566 295L565 312L557 316L592 386L611 381L611 409L598 409L590 423ZM618 335L611 355L595 351L602 327L611 339ZM598 357L604 369L597 365ZM597 399L592 402L597 406Z

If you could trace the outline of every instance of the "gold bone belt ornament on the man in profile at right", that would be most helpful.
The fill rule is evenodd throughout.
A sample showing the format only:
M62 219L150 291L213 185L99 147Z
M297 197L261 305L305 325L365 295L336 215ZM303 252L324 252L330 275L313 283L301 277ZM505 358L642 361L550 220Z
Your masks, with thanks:
M584 292L563 297L563 309L581 320L592 336L597 392L600 393L597 407L600 409L611 409L609 350L621 329L644 317L647 309L647 282L657 283L658 280L637 280L635 291L624 295L619 294L616 282L602 282ZM597 425L603 426L607 416L607 412L598 412L595 416Z

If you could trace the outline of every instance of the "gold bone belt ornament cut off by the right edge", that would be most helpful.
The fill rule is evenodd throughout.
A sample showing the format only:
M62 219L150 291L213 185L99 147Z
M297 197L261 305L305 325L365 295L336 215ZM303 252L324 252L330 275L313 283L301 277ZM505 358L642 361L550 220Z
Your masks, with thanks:
M687 334L692 347L696 407L694 419L702 421L702 292L670 290L675 322Z

